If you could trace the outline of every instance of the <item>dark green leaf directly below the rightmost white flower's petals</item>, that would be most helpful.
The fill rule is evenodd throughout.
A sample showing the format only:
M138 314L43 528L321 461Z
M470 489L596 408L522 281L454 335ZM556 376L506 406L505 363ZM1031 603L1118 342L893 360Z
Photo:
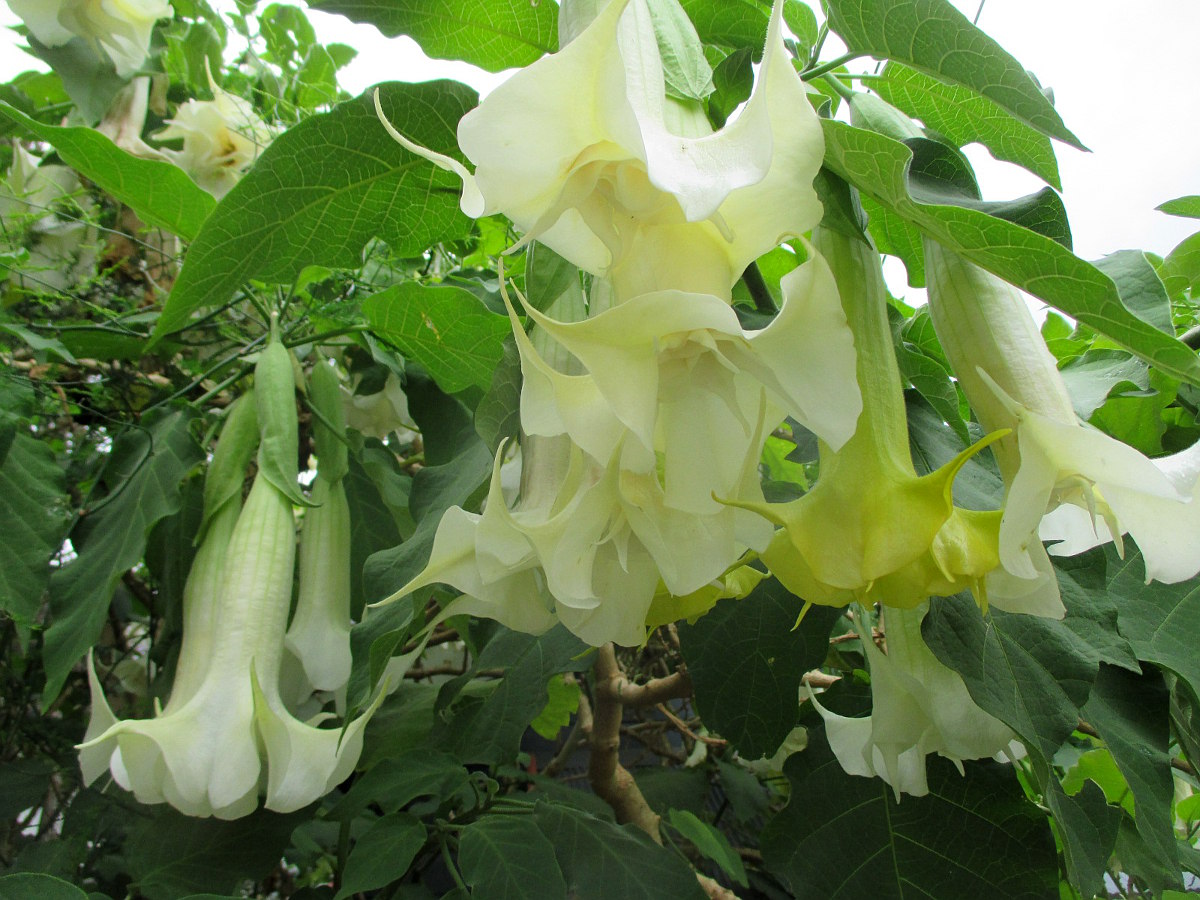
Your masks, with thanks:
M970 598L934 598L922 635L971 698L1043 758L1075 730L1099 664L1064 623L1000 610L980 616Z

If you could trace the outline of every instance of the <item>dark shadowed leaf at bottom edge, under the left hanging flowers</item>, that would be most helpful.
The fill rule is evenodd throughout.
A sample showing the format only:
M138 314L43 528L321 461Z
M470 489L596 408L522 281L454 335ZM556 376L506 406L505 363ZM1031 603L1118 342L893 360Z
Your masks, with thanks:
M259 881L272 871L292 832L310 816L307 810L289 815L258 810L223 822L185 816L166 804L152 814L143 809L125 841L127 871L150 900L232 894L244 880Z

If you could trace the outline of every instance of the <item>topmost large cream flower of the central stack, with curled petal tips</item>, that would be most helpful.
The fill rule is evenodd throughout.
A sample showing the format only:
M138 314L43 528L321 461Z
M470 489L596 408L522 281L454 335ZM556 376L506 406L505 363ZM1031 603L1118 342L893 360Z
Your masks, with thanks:
M730 299L745 266L821 217L823 138L775 4L758 82L713 132L668 98L646 0L612 0L558 53L516 73L458 125L475 164L408 150L458 174L467 215L503 212L622 302L661 289Z

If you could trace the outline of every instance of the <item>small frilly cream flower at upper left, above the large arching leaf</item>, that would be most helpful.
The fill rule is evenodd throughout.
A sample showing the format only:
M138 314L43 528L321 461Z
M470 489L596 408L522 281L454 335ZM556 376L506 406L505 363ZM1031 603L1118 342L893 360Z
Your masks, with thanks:
M211 82L212 100L190 100L167 120L157 140L182 139L180 150L162 148L179 168L217 199L229 193L246 169L271 143L271 130L241 97Z

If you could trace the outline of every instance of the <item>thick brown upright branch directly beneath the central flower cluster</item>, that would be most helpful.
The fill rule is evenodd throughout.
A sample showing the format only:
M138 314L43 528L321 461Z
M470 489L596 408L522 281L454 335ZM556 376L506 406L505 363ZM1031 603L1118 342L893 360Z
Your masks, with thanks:
M596 650L593 677L595 697L592 708L588 784L592 785L596 797L612 808L619 823L636 824L650 835L653 841L661 844L659 814L650 809L629 769L620 764L620 719L624 712L622 683L625 678L611 643Z

